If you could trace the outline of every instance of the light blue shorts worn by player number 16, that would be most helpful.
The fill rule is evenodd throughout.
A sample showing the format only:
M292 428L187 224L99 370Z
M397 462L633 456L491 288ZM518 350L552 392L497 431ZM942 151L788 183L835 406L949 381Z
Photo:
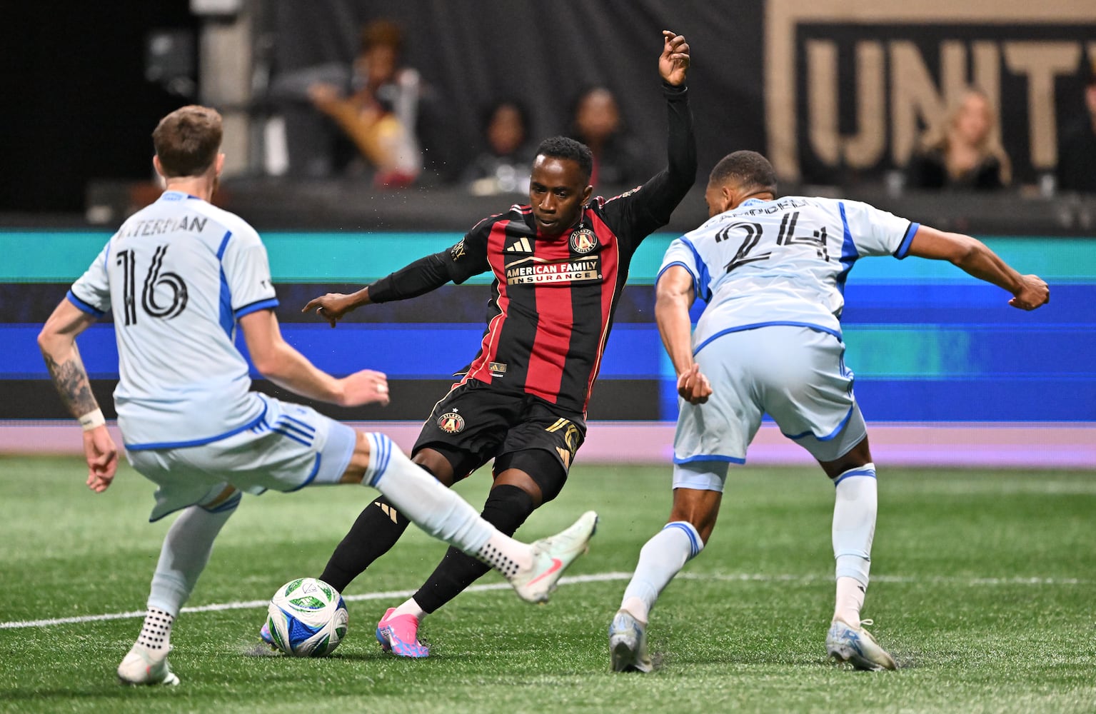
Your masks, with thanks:
M261 494L339 483L354 454L355 431L310 407L259 396L266 412L251 429L198 446L126 452L129 464L159 486L150 521L215 502L228 486Z

